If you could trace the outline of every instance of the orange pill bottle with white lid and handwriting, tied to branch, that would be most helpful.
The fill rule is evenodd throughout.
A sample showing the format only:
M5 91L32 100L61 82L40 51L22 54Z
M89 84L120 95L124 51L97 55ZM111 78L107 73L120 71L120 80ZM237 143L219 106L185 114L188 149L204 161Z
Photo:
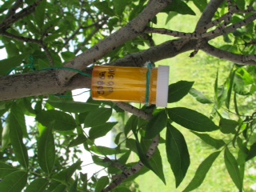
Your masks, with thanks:
M169 66L158 68L94 66L91 93L94 100L142 102L167 106Z

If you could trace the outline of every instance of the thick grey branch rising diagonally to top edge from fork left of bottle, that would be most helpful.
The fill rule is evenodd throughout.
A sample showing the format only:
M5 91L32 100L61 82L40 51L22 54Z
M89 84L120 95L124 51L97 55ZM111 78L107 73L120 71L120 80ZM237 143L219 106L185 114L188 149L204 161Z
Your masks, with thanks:
M73 61L67 62L65 66L76 70L85 69L86 66L96 62L99 58L102 58L116 47L121 46L124 42L137 37L138 34L142 33L146 24L170 2L172 2L172 0L151 1L137 18L134 18L134 20L114 34L110 34L109 37L99 42L98 45L86 50L83 54L78 55ZM59 70L58 82L65 85L74 74L76 73L72 71L63 72L62 70Z

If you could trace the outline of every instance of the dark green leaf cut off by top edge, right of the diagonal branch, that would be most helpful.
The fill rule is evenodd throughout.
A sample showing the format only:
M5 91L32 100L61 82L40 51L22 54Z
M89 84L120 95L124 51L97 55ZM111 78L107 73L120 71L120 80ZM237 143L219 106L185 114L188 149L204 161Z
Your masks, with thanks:
M191 10L190 6L187 6L186 2L182 2L181 0L173 0L169 6L166 6L162 12L169 13L170 11L175 11L178 14L190 14L196 15L193 10Z

